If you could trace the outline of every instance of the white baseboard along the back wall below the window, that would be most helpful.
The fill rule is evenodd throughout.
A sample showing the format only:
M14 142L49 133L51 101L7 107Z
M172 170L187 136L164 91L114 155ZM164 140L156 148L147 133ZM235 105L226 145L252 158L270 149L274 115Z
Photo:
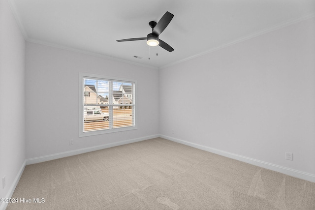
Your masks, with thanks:
M26 165L30 165L30 164L34 164L34 163L41 163L41 162L45 162L45 161L49 161L49 160L55 160L55 159L73 156L73 155L77 155L77 154L82 154L82 153L86 153L86 152L90 152L90 151L103 150L106 148L117 147L117 146L121 146L121 145L126 145L126 144L130 144L130 143L134 143L134 142L140 142L140 141L158 138L158 137L159 137L159 135L156 134L156 135L145 136L145 137L136 138L136 139L129 139L129 140L125 140L125 141L99 145L99 146L95 146L95 147L89 147L89 148L83 148L83 149L79 149L79 150L71 150L71 151L65 151L65 152L60 152L60 153L56 153L56 154L45 155L45 156L41 156L41 157L29 158L29 159L26 159Z

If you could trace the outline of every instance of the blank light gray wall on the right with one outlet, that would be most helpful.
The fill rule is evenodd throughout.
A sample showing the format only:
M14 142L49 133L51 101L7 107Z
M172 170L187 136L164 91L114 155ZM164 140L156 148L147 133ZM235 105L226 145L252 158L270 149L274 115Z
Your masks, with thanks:
M160 134L314 176L314 37L312 18L160 70Z

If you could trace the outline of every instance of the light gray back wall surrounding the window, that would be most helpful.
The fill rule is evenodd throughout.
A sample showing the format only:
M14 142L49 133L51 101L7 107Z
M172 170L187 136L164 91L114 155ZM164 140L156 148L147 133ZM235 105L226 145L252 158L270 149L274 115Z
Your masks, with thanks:
M79 138L79 72L137 80L138 129ZM157 135L158 96L156 69L27 42L27 158Z

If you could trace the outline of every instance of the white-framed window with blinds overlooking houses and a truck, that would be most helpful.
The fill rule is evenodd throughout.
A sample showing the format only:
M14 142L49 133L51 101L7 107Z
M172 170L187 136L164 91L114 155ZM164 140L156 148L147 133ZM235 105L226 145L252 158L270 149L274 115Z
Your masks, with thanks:
M79 136L136 129L135 86L135 80L80 73Z

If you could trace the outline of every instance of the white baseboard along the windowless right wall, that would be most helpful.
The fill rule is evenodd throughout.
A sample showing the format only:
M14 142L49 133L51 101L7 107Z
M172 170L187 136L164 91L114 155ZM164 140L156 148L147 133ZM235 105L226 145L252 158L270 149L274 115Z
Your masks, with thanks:
M305 172L302 172L302 171L298 171L298 170L286 168L286 167L283 167L283 166L275 165L275 164L272 164L272 163L267 163L267 162L264 162L264 161L256 160L256 159L253 159L253 158L250 158L250 157L245 157L245 156L242 156L242 155L234 154L234 153L223 151L223 150L217 150L217 149L214 149L214 148L210 148L210 147L207 147L207 146L203 146L203 145L199 145L199 144L183 141L183 140L176 139L176 138L169 137L169 136L165 136L165 135L159 135L159 137L167 139L167 140L170 140L170 141L173 141L173 142L177 142L177 143L180 143L180 144L184 144L184 145L187 145L187 146L190 146L190 147L193 147L193 148L209 151L209 152L212 152L212 153L215 153L215 154L219 154L219 155L222 155L222 156L225 156L225 157L229 157L229 158L232 158L232 159L235 159L235 160L246 162L246 163L249 163L249 164L252 164L252 165L255 165L255 166L259 166L261 168L265 168L265 169L269 169L269 170L272 170L272 171L276 171L276 172L279 172L279 173L282 173L282 174L285 174L285 175L288 175L288 176L291 176L291 177L295 177L295 178L299 178L299 179L302 179L302 180L308 180L308 181L315 182L315 175L314 174L309 174L309 173L305 173Z

